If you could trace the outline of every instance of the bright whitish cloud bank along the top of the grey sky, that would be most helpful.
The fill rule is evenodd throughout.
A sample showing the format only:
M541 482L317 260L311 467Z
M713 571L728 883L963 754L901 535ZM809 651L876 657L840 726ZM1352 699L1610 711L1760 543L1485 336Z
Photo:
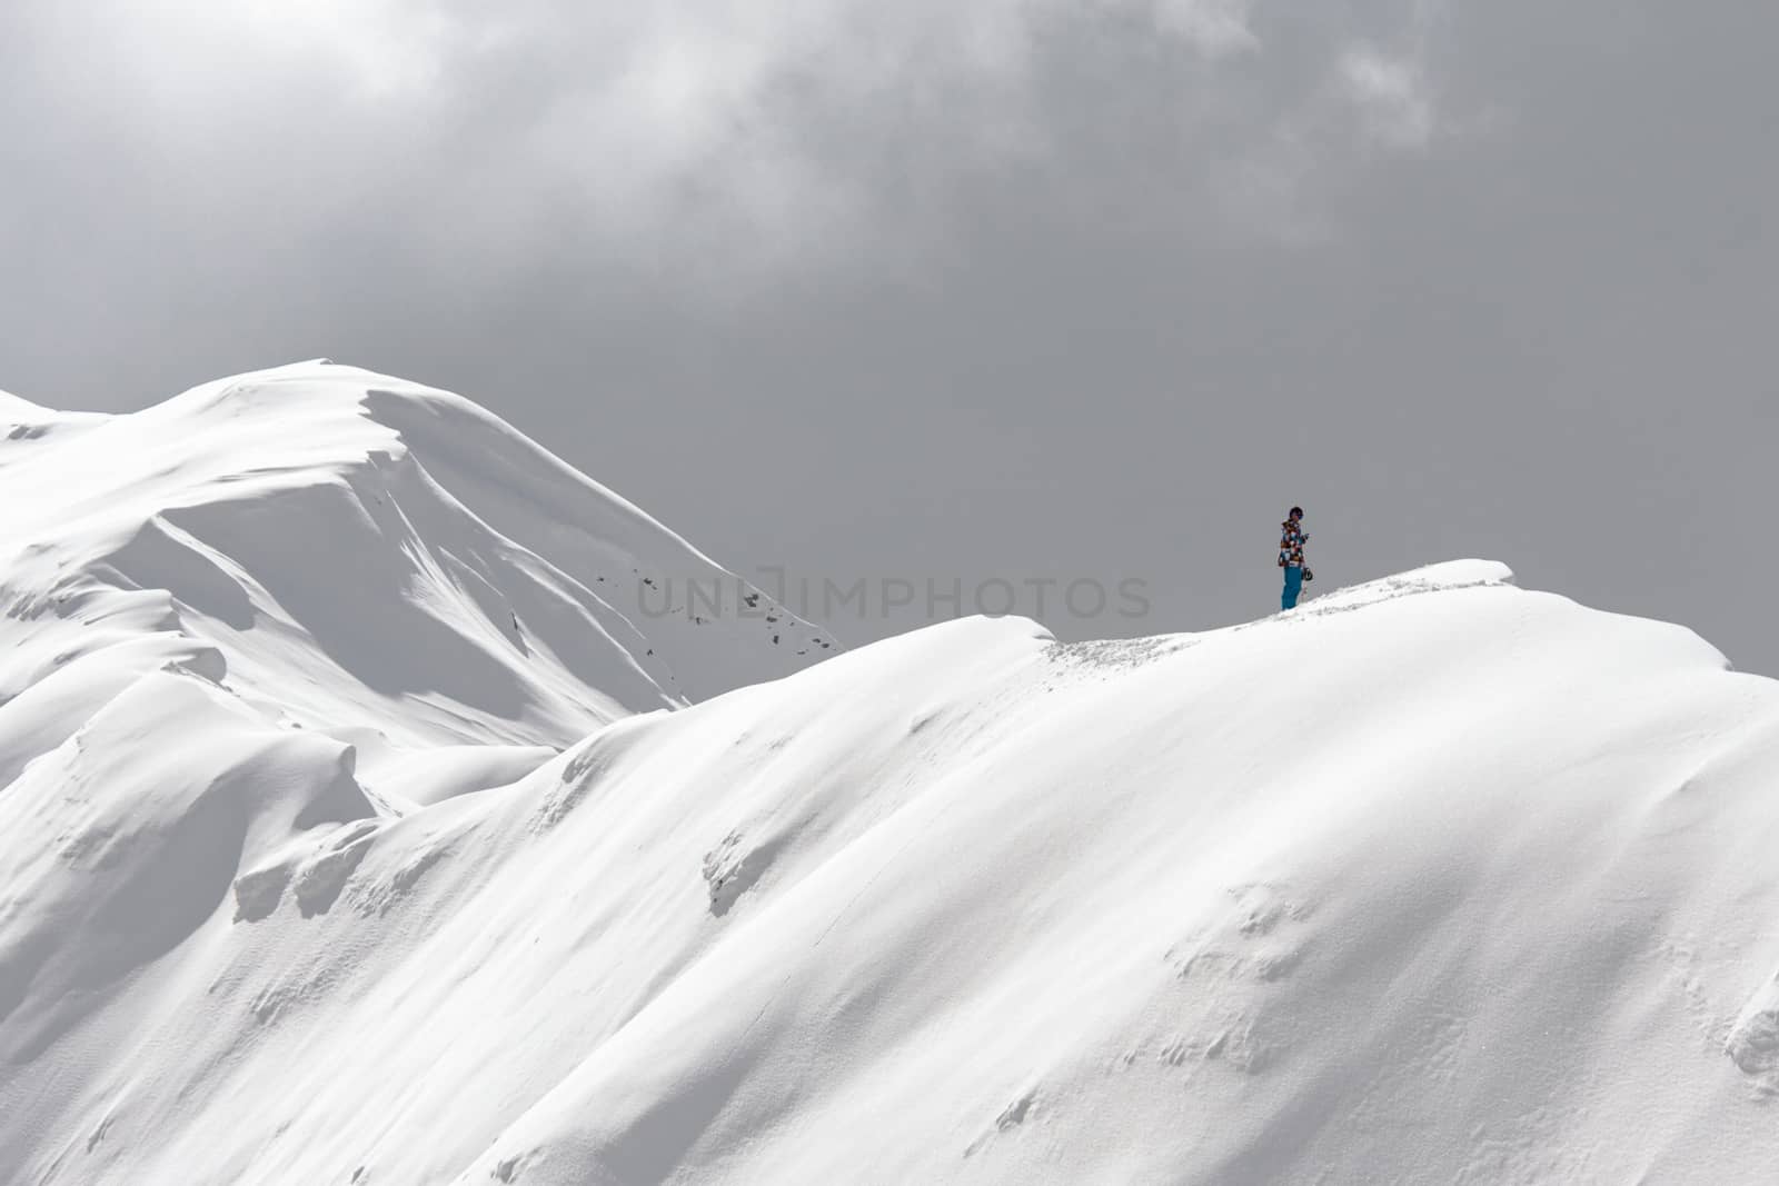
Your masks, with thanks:
M1292 242L1354 167L1352 128L1413 151L1439 126L1418 59L1286 0L112 0L7 21L53 62L53 116L96 126L119 172L190 187L196 220L270 210L326 240L384 215L487 268L575 251L740 290L943 252L973 187L1091 201L1082 160L1181 231ZM1165 139L1135 149L1149 124ZM301 192L270 180L292 174Z

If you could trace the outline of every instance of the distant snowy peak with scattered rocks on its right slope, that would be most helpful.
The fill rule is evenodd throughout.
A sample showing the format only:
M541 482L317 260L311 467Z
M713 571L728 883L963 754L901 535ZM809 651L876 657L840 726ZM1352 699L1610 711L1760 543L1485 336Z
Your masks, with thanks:
M366 757L560 747L833 645L763 597L694 621L687 580L740 581L431 388L306 363L0 421L0 733L53 745L173 663Z

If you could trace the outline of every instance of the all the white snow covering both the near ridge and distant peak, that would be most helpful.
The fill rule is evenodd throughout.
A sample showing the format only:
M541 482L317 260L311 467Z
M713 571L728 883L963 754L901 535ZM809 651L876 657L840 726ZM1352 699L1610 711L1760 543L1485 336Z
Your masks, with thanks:
M1774 1181L1779 685L1686 629L1455 562L680 708L783 649L637 660L589 574L696 553L459 400L9 414L5 1181Z

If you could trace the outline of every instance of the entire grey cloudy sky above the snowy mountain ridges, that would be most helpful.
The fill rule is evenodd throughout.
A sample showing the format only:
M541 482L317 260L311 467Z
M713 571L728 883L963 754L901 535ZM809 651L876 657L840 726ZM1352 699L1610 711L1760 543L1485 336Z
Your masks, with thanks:
M1318 587L1482 555L1779 674L1775 41L1754 0L11 0L0 388L350 361L744 573L1147 583L1066 637L1268 612L1302 501Z

